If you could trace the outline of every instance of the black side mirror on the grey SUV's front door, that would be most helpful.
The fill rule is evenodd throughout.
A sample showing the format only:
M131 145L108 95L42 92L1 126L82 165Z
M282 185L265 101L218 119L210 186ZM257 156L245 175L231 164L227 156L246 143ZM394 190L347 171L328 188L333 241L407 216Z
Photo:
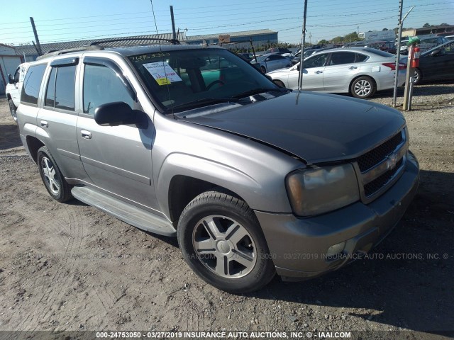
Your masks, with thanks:
M123 101L106 103L94 110L94 121L101 126L118 126L135 124L142 128L148 125L145 114L142 111L133 110Z

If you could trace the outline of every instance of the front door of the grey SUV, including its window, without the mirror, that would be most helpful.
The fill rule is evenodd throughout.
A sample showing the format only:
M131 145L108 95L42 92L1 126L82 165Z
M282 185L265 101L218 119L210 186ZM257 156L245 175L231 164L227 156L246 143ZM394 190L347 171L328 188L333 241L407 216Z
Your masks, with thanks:
M157 208L151 148L155 130L136 125L101 126L94 121L97 106L123 101L133 109L140 103L118 64L102 57L84 57L80 81L81 112L77 141L84 169L95 186L135 205ZM128 86L126 86L128 85Z

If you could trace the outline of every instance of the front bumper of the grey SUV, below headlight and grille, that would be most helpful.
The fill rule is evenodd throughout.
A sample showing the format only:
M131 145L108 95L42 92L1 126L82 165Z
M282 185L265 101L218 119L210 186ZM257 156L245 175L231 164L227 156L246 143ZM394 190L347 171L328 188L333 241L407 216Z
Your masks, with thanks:
M316 217L255 211L277 273L284 280L319 276L370 251L391 232L416 194L419 164L411 152L404 173L370 204L348 207ZM330 246L345 241L341 256L328 259Z

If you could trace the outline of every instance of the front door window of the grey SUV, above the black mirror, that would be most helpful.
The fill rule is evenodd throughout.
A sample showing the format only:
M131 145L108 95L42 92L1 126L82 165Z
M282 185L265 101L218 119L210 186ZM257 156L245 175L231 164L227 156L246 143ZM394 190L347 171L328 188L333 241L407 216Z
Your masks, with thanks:
M131 108L134 100L117 77L116 72L99 64L85 64L84 113L94 115L94 109L106 103L123 101Z

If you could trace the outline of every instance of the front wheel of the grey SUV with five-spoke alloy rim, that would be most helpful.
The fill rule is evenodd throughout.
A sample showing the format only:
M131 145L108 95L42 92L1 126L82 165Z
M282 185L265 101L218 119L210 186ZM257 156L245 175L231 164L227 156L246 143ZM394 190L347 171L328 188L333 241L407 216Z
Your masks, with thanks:
M257 217L229 193L208 191L194 198L182 212L177 236L184 260L218 289L248 293L275 276Z

